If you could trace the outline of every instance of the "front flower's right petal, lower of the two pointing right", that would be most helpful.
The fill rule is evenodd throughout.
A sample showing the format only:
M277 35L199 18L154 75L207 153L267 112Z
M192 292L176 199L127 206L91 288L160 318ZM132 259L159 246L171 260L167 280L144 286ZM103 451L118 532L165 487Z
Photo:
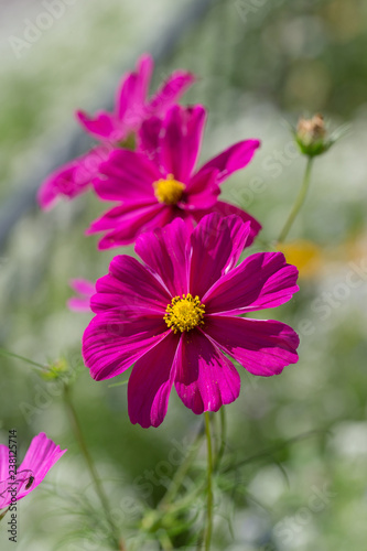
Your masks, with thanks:
M284 323L212 315L205 333L253 375L278 375L299 359L299 336Z

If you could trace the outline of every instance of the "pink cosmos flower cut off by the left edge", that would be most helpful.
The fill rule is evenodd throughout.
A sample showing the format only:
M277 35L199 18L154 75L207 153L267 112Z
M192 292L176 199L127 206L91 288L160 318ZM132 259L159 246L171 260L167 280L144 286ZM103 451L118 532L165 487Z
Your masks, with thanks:
M12 465L12 461L9 462L11 452L8 446L0 444L0 509L9 507L14 503L14 498L19 501L36 488L66 451L61 450L44 432L41 432L32 440L14 479L12 475L9 476L12 472L9 466L9 463Z

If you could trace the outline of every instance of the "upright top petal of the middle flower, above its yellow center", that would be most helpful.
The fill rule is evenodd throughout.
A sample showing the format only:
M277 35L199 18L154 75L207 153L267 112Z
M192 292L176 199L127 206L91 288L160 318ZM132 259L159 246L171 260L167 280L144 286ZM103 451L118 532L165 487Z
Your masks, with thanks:
M206 112L203 106L173 106L164 120L161 162L168 174L188 182L202 144Z

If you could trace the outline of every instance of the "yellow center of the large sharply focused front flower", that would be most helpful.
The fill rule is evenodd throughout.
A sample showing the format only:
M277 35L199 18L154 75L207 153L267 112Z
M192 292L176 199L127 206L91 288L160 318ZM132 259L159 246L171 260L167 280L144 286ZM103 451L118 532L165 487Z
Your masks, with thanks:
M173 333L183 333L204 324L205 304L190 293L174 296L165 312L164 321Z

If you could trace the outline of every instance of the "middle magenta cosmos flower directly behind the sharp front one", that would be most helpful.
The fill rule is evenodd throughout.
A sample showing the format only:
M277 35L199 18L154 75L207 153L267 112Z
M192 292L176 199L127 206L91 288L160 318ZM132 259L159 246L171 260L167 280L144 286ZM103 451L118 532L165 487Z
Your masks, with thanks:
M249 242L261 226L249 214L218 201L219 184L244 169L259 148L258 140L238 142L195 171L206 112L204 107L172 106L164 120L151 118L140 130L140 151L115 150L94 181L97 195L120 205L90 226L88 234L107 231L106 249L180 217L193 227L208 213L236 214L250 222Z

